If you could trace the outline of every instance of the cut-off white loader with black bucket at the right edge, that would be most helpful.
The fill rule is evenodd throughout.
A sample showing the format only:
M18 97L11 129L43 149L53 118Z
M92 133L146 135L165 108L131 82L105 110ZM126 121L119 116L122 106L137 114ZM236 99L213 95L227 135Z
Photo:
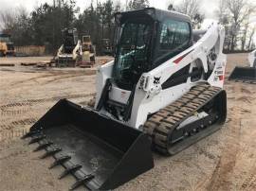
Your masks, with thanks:
M256 84L256 49L248 54L248 67L236 66L229 80Z

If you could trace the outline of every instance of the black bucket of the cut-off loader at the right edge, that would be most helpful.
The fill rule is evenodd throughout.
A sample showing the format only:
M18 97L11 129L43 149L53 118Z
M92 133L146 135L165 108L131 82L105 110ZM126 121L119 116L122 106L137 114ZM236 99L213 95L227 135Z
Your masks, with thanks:
M230 74L229 80L256 83L256 68L236 66Z

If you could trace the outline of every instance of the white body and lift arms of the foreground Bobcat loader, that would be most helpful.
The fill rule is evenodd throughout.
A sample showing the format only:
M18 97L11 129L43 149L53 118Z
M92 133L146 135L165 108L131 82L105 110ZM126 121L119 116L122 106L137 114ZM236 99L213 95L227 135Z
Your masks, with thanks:
M137 15L142 14L141 11L139 12L138 10ZM164 14L157 12L157 9L155 14L152 9L144 9L143 11L146 11L145 14L153 15L152 18L161 15L160 18L163 19L162 15ZM128 12L127 15L129 16L129 14ZM189 18L182 14L174 14L173 12L170 14L174 19L177 18L177 20L181 20L181 18L185 18L185 21L189 20ZM124 14L123 17L127 15ZM120 16L118 15L118 17ZM198 36L198 33L196 34ZM172 59L162 62L153 70L144 72L137 80L135 90L123 89L117 83L112 83L111 92L107 98L112 103L119 102L124 105L124 108L128 108L129 97L132 93L134 94L133 106L128 120L127 117L115 116L115 113L110 113L106 108L101 108L99 113L113 119L118 119L121 123L138 129L143 126L151 113L156 113L161 108L174 102L178 97L188 92L192 86L200 82L208 82L212 86L223 88L227 59L226 55L222 53L224 37L224 28L217 24L212 24L206 32L201 32L201 38L191 47L177 54ZM196 75L196 73L193 73L192 68L196 65L200 65L202 71L199 79L192 80L192 77ZM103 87L108 79L113 78L114 67L115 61L110 61L102 65L97 73L96 86L98 94L96 96L95 109L98 108L99 110L97 106L102 98ZM178 81L172 84L174 80L178 80L178 78L172 78L180 76L177 74L186 67L189 67L188 76L182 79L181 82ZM171 85L167 85L168 80L172 81Z

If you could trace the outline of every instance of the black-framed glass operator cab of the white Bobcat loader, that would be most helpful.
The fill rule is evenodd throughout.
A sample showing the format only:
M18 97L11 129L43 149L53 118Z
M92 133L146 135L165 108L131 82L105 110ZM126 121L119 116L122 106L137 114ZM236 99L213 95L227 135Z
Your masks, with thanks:
M116 42L113 78L131 91L144 72L173 58L192 45L190 17L148 8L115 15Z

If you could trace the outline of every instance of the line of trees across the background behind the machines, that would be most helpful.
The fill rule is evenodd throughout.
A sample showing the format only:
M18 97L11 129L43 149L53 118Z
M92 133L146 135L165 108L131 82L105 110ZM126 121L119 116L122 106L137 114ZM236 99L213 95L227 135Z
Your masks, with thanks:
M256 11L249 0L219 0L215 15L226 28L225 48L229 51L255 48L252 38L256 26L249 25L249 18ZM52 4L41 4L31 12L24 8L6 10L0 13L2 28L9 32L15 45L46 45L48 53L54 53L62 43L62 29L76 27L80 34L90 35L97 47L102 39L113 39L114 13L117 11L150 7L148 0L120 1L91 0L83 11L75 0L53 0ZM182 0L178 4L170 1L167 9L188 14L192 26L200 28L205 19L200 0Z

